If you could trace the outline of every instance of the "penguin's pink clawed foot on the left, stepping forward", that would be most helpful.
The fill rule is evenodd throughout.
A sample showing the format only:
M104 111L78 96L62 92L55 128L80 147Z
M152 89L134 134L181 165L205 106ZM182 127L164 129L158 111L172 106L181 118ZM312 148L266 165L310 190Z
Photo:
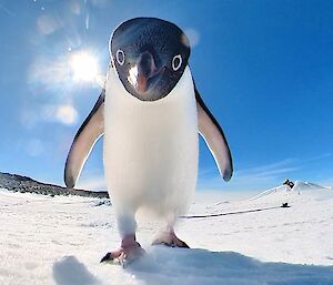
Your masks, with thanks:
M112 263L127 266L129 263L144 254L144 250L135 241L134 235L125 236L121 242L121 247L117 251L107 253L101 263Z

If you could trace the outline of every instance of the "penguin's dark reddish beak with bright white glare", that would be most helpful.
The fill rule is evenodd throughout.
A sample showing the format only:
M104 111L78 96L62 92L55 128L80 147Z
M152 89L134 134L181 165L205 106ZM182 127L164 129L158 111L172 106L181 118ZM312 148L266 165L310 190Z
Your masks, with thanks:
M143 95L150 89L150 80L160 73L153 55L149 51L142 52L137 63L129 71L129 82L138 94Z

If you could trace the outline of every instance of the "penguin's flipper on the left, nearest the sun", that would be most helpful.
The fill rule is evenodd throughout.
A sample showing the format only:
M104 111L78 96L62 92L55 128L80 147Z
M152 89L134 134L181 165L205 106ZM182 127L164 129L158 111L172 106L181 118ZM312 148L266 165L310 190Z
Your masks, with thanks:
M64 166L64 183L68 187L74 187L93 145L104 133L104 99L105 89L75 134Z

